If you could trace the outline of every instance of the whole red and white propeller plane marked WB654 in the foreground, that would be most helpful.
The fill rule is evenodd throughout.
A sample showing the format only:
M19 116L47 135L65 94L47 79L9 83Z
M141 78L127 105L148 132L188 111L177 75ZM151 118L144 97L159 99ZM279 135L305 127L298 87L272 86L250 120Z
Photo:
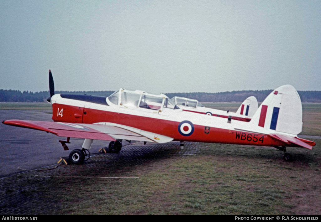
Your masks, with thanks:
M284 85L263 101L250 122L186 112L167 96L120 89L109 97L55 94L49 70L47 99L53 110L52 120L6 120L3 124L25 127L67 137L60 141L64 149L70 138L83 138L82 149L74 149L69 159L82 164L93 140L106 140L111 152L119 152L122 143L144 141L166 143L193 141L269 146L284 152L286 147L312 149L315 142L297 136L302 130L302 105L291 85Z

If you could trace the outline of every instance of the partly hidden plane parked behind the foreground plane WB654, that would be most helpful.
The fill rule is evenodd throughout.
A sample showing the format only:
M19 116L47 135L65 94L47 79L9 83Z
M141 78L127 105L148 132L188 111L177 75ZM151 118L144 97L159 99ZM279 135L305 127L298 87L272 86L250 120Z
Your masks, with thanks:
M196 99L175 96L171 98L171 100L179 108L183 109L183 111L213 115L213 116L218 116L222 118L229 118L229 116L231 116L231 119L245 121L245 122L249 122L252 116L255 114L256 110L258 109L258 103L254 96L250 96L247 99L245 99L244 102L239 107L239 109L236 111L236 113L229 112L229 110L223 111L219 109L204 107Z

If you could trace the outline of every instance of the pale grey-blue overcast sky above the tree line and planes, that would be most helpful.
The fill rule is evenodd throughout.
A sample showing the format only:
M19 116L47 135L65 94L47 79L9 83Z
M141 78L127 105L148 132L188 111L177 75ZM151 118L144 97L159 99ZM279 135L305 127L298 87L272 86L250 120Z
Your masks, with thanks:
M321 90L321 1L0 1L0 89Z

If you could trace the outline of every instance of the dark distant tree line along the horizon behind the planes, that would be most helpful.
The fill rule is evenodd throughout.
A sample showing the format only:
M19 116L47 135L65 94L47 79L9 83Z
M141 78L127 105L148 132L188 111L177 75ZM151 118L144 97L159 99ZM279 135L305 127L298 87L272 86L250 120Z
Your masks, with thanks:
M197 99L200 102L243 102L247 97L255 96L258 102L263 100L273 90L242 90L217 93L206 92L177 92L164 93L169 98L174 96ZM114 91L55 91L56 94L86 94L109 96ZM321 91L298 91L302 102L321 102ZM0 90L0 102L44 102L49 97L49 91L31 92L20 90Z

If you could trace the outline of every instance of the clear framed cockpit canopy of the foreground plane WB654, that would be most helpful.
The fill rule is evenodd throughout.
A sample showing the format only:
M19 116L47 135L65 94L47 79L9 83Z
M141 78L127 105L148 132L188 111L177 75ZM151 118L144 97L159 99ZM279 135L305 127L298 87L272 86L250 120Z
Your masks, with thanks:
M120 89L108 97L113 104L126 107L141 107L161 111L163 108L179 109L166 95L153 95L140 90Z

